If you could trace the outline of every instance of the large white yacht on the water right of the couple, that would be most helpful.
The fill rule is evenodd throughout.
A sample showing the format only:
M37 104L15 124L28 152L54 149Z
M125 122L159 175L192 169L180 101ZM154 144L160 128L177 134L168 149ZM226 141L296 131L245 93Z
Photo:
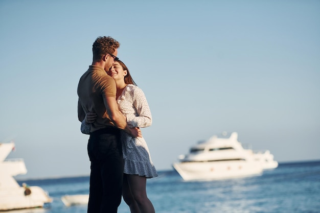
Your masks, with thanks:
M244 149L238 141L238 133L229 138L212 136L180 155L173 168L184 180L227 179L260 175L264 169L278 167L273 155L267 150L254 153Z

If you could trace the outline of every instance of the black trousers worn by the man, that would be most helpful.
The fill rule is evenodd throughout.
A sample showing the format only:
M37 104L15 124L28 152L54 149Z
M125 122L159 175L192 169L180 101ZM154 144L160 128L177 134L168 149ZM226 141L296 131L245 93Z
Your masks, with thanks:
M91 161L88 213L116 213L121 202L123 156L120 130L101 129L90 134Z

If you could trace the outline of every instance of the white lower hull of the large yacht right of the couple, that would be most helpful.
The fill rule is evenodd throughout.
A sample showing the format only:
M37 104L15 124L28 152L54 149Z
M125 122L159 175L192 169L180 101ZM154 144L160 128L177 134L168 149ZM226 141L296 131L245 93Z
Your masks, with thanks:
M177 162L173 168L184 180L218 180L260 175L261 164L242 160Z

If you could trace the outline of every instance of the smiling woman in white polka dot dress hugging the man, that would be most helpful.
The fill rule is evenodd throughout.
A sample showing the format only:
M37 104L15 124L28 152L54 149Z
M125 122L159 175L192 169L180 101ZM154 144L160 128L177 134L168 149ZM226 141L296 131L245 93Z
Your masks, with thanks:
M130 127L148 127L152 117L144 92L136 86L129 69L120 60L115 61L107 74L117 85L117 103L126 116ZM86 121L85 121L86 120ZM81 131L88 133L89 125L95 120L94 113L88 113L82 122ZM87 131L85 131L85 129ZM124 158L124 178L122 196L131 213L155 212L146 193L146 179L157 177L148 146L143 137L131 137L124 131L121 135Z

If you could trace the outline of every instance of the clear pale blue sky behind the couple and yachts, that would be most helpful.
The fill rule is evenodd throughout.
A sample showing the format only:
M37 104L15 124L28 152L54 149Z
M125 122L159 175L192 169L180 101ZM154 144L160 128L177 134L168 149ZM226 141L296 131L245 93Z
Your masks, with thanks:
M0 141L15 141L21 177L89 174L77 85L105 35L146 94L158 170L222 131L279 162L320 159L319 11L308 0L2 0Z

